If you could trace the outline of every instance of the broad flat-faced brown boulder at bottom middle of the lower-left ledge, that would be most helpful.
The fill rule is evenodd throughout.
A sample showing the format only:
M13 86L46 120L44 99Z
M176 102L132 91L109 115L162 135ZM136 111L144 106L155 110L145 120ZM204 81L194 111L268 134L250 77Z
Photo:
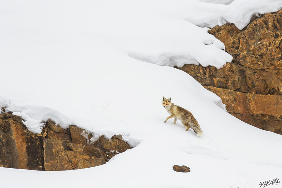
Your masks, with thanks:
M74 170L106 163L97 148L65 141L44 139L45 170Z

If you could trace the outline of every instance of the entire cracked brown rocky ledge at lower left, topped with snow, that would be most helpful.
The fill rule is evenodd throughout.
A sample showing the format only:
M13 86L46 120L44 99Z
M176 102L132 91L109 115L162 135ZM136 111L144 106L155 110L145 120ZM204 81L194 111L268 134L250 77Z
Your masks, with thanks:
M27 130L23 119L0 114L0 167L29 170L74 170L105 164L114 155L130 149L122 135L110 140L101 136L92 142L92 133L75 125L63 129L52 120L41 134Z

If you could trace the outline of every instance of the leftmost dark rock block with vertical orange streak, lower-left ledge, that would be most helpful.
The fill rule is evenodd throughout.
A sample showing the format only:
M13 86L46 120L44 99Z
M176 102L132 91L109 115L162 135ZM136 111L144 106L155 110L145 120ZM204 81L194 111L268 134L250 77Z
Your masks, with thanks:
M44 170L42 140L28 131L18 117L3 114L0 118L0 166Z

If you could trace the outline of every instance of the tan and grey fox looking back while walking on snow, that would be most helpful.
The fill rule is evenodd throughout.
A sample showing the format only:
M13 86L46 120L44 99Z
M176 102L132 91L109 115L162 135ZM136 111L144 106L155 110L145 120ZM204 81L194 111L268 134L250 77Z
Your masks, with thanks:
M166 118L165 123L169 118L174 118L173 124L175 124L176 120L179 119L181 123L186 127L185 131L187 131L191 127L197 136L203 136L201 127L191 112L182 107L176 106L171 102L171 97L168 99L163 97L162 104L165 110L170 114L170 116Z

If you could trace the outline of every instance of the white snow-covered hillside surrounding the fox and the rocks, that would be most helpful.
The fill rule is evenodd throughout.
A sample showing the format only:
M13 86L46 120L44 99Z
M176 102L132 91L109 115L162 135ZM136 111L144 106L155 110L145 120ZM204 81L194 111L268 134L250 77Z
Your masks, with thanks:
M134 147L82 170L0 168L1 185L241 188L282 178L282 136L234 118L219 97L171 67L221 68L232 56L204 27L242 29L253 14L280 8L279 0L1 1L0 106L34 133L51 118L93 139L123 134ZM164 123L162 96L191 111L204 136L180 121Z

